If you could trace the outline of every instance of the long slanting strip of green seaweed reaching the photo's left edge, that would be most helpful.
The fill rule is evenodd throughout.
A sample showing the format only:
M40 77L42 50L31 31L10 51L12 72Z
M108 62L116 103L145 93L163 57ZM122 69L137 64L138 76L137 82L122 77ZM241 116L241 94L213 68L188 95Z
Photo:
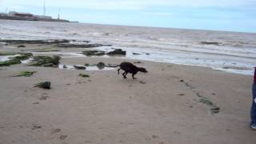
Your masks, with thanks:
M8 60L8 61L0 62L0 66L10 66L10 65L22 63L22 61L32 57L32 55L33 54L31 54L31 53L20 54L17 57L10 58L10 60Z

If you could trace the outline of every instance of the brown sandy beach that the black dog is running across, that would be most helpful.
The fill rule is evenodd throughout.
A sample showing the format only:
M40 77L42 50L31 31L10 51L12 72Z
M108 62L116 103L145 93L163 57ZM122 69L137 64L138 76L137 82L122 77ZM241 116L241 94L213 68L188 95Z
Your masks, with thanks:
M66 63L134 62L62 58ZM197 66L142 62L148 74L59 70L25 65L0 69L1 144L254 144L251 76ZM32 77L9 77L21 70ZM80 73L90 78L79 77ZM183 80L183 82L180 82ZM35 88L52 82L51 90ZM218 114L198 102L209 98Z

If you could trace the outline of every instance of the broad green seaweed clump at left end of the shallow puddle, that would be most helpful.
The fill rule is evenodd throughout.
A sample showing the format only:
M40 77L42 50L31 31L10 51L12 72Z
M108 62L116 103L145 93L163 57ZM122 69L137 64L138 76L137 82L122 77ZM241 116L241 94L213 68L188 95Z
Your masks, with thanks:
M45 66L45 67L58 67L60 57L54 55L49 56L35 56L29 66Z

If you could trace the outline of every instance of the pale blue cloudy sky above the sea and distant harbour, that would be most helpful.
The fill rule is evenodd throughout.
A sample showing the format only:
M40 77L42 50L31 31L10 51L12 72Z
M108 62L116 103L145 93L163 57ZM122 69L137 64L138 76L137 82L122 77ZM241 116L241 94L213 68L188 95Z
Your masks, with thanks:
M43 14L43 0L0 0L0 11ZM46 0L72 21L256 33L256 0Z

